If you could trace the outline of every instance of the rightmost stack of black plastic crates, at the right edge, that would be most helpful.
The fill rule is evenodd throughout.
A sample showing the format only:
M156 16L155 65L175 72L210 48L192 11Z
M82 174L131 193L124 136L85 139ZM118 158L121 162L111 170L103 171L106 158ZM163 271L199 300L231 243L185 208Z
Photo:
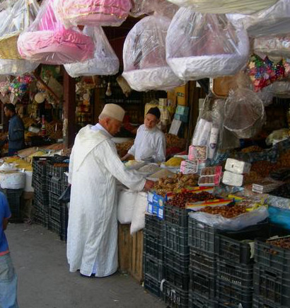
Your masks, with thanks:
M281 239L286 241L284 248L271 244L273 240L255 240L255 308L290 307L290 236Z

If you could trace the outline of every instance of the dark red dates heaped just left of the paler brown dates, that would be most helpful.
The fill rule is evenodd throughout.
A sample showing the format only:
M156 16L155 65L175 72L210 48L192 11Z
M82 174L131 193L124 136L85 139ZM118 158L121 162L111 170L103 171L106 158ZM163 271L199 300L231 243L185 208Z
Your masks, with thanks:
M167 204L174 207L185 208L187 203L195 203L212 199L215 199L214 195L207 193L207 191L203 191L202 193L192 193L190 191L185 191L176 194L172 199L167 201Z

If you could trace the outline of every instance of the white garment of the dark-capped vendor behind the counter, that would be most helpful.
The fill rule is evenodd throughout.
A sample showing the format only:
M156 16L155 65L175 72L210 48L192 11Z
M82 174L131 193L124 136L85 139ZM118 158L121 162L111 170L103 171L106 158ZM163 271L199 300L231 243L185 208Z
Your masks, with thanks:
M134 155L137 161L153 159L154 161L166 160L166 139L158 127L148 130L141 125L137 130L137 136L129 154Z

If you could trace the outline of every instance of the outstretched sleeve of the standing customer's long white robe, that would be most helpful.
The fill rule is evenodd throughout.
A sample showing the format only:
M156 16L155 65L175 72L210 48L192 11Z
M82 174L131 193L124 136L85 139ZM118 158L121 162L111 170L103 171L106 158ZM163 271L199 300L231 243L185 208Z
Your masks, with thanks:
M142 190L145 186L146 179L135 171L127 170L114 147L115 145L110 144L110 141L104 141L99 145L98 150L95 151L98 151L97 153L101 151L101 163L124 186L127 186L131 190ZM97 153L96 156L99 156Z

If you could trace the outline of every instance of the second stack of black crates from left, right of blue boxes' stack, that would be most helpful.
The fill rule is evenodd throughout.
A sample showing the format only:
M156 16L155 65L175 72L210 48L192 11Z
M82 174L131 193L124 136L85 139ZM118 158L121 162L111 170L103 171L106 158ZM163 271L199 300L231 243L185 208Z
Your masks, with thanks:
M188 212L165 205L163 298L170 307L188 307L190 247Z

